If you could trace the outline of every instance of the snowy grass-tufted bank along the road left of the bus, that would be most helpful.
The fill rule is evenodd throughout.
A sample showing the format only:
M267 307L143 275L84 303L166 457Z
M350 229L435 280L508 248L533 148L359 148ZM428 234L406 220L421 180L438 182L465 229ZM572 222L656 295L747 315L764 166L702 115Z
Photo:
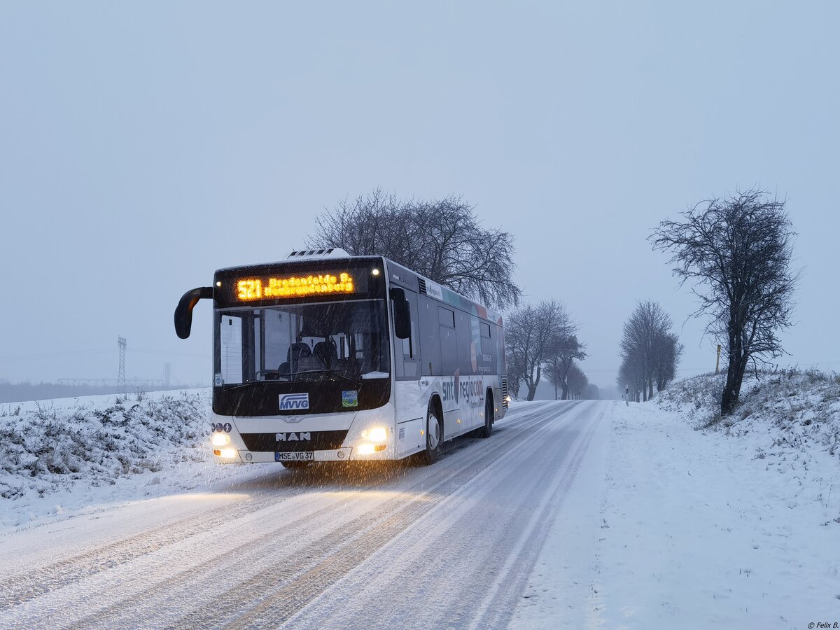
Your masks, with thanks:
M209 408L207 390L3 405L0 525L37 524L254 475L213 462Z

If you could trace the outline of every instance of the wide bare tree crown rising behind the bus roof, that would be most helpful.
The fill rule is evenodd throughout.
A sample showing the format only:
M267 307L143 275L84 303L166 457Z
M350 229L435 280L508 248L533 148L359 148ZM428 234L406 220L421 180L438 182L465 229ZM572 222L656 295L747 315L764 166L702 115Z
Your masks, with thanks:
M484 228L460 197L401 200L377 188L324 212L307 245L386 256L487 306L517 306L522 296L513 237Z

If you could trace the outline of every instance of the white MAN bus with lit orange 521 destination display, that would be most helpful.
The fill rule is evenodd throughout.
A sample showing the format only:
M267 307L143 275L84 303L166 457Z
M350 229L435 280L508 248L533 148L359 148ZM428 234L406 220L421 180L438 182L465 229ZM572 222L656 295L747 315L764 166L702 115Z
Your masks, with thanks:
M220 269L181 297L181 339L202 299L219 462L431 464L507 411L501 316L393 260L309 249Z

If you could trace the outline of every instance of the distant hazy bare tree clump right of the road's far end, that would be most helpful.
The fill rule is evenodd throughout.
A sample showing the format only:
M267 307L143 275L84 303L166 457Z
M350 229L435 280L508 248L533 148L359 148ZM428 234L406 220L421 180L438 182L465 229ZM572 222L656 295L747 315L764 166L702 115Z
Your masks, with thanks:
M619 387L627 386L633 397L644 401L662 391L676 375L683 345L671 332L673 322L658 302L638 302L624 323L619 350L622 365L618 370Z

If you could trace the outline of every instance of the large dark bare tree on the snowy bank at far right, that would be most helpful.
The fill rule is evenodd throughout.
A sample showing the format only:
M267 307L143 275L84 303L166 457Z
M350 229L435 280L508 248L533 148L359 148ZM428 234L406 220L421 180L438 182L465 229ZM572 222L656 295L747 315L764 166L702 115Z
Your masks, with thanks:
M756 188L713 197L681 216L659 223L650 238L654 249L672 253L680 284L694 283L701 301L695 315L708 316L706 332L724 342L726 415L738 404L749 361L785 353L777 333L791 325L799 279L790 271L795 233L785 202Z

